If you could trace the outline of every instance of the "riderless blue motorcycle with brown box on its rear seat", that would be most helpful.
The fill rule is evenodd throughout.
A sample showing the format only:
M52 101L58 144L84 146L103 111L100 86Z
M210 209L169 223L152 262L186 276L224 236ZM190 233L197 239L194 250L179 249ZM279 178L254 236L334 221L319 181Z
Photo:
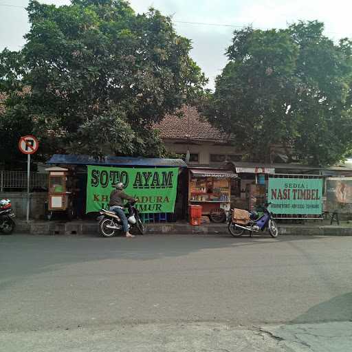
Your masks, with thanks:
M249 231L250 236L253 232L269 230L270 236L276 238L278 236L278 227L274 221L272 212L268 210L270 203L263 206L264 214L259 217L258 212L242 209L232 209L231 217L228 222L228 230L232 236L242 236L243 232Z

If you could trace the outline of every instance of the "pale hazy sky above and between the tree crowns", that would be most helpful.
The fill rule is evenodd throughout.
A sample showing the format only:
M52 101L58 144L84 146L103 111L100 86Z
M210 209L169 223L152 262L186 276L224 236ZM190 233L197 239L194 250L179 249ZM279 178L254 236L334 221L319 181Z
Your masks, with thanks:
M41 3L67 5L69 0L39 0ZM226 64L224 55L232 32L246 25L254 28L286 28L298 20L325 23L325 34L338 40L352 37L351 0L130 0L136 12L150 6L172 16L175 29L192 41L191 56L209 78L214 78ZM6 6L5 6L6 5ZM10 5L10 6L8 6ZM0 0L0 50L19 50L28 32L25 7L28 0ZM17 7L18 6L18 7ZM192 23L184 23L192 22Z

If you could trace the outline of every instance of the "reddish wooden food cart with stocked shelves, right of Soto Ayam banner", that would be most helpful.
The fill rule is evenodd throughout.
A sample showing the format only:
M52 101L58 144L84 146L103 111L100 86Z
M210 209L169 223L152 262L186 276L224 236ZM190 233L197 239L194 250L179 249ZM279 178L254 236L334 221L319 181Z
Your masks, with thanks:
M237 177L230 170L190 168L188 173L188 205L202 206L202 215L211 221L223 222L230 211L231 179Z

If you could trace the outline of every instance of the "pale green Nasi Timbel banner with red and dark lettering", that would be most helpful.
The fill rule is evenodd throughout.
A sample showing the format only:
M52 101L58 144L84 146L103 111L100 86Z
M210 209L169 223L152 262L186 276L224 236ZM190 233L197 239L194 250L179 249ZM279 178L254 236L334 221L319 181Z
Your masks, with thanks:
M270 177L267 199L274 214L322 214L322 179Z

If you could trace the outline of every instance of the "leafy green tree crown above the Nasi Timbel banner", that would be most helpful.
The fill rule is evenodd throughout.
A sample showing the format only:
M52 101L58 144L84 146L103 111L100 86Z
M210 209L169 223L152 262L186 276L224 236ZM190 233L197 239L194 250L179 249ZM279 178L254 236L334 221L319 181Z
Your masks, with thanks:
M248 159L270 162L274 145L289 161L316 165L351 151L351 42L336 45L323 28L234 31L229 62L200 109Z

